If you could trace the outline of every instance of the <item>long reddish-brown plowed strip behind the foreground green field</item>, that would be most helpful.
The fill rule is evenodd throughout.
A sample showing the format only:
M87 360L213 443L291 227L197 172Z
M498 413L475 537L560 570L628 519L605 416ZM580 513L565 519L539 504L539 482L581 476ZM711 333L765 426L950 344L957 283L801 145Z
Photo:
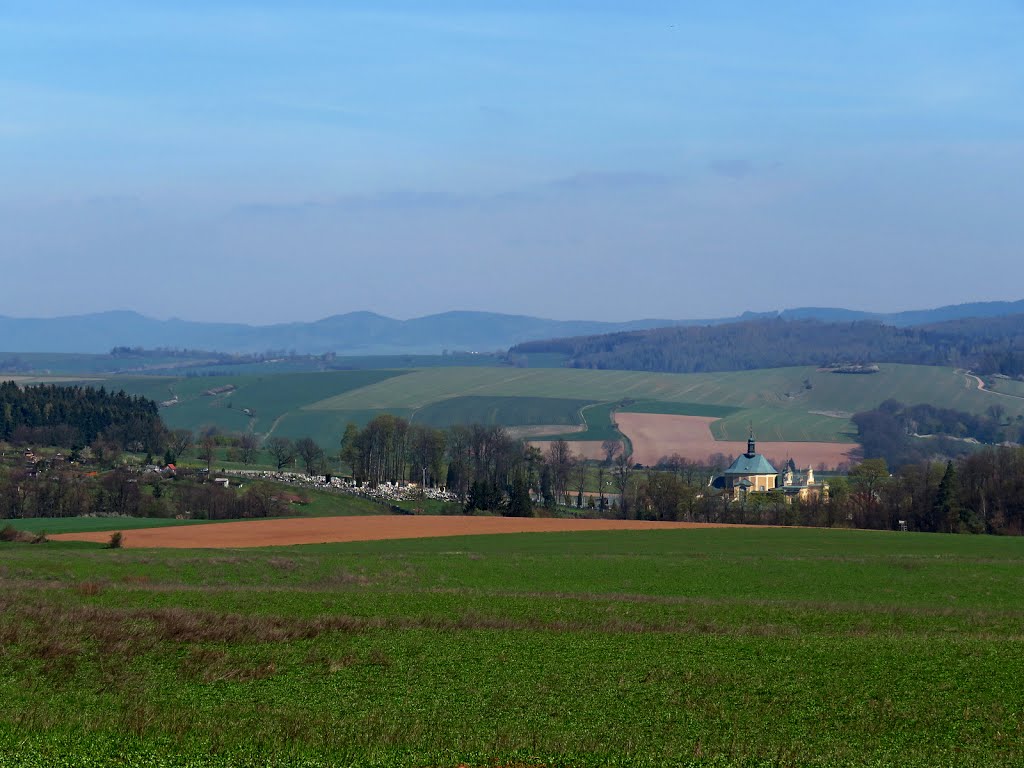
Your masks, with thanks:
M124 532L125 547L221 549L283 547L293 544L369 542L384 539L429 539L483 534L534 534L563 530L667 530L714 528L699 522L650 520L557 520L523 517L439 517L379 515L366 517L306 517L284 520L240 520L206 525L140 528ZM56 541L105 543L113 530L57 534Z

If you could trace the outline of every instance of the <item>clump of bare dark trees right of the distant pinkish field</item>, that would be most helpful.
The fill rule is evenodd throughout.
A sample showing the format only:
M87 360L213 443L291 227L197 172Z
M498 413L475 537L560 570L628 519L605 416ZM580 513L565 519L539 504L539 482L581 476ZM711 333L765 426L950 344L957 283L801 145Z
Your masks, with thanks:
M854 414L852 421L863 456L885 459L890 466L964 456L981 443L1019 442L1024 436L1024 422L1010 420L997 403L977 415L890 399L873 411Z

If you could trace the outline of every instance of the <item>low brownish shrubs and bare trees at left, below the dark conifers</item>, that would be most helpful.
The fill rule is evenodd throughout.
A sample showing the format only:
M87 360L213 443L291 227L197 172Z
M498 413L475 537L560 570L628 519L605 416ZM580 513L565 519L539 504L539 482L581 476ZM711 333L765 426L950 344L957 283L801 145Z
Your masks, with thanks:
M138 474L124 469L101 475L52 471L33 476L0 468L0 518L182 517L201 520L275 517L288 514L280 488L251 483L243 492L211 482Z

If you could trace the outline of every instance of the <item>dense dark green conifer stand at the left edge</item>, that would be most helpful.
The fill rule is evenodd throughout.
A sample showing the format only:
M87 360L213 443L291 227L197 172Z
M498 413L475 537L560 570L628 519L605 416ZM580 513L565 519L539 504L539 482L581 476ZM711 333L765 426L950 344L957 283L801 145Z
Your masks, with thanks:
M97 441L123 451L157 452L164 424L157 403L105 388L0 383L0 440L84 447Z

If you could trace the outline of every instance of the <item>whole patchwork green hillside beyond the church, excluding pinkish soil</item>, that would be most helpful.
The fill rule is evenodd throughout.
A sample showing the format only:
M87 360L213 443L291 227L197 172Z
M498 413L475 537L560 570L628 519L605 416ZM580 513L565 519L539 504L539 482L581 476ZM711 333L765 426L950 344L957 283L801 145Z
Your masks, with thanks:
M843 443L855 440L849 420L853 413L889 398L972 413L997 403L1011 418L1024 415L1024 398L979 389L977 381L963 373L897 365L866 376L813 368L676 375L478 367L116 377L110 386L166 402L161 413L171 426L309 435L330 449L337 445L345 424L365 424L382 413L432 426L481 422L522 427L522 434L532 439L546 432L549 437L591 442L618 436L615 413L663 414L713 418L709 428L716 440L745 440L753 424L760 440ZM671 423L667 421L663 431L671 429ZM581 426L586 430L579 431ZM645 456L657 453L653 443L644 446L643 435L626 435ZM729 451L722 446L720 453Z

